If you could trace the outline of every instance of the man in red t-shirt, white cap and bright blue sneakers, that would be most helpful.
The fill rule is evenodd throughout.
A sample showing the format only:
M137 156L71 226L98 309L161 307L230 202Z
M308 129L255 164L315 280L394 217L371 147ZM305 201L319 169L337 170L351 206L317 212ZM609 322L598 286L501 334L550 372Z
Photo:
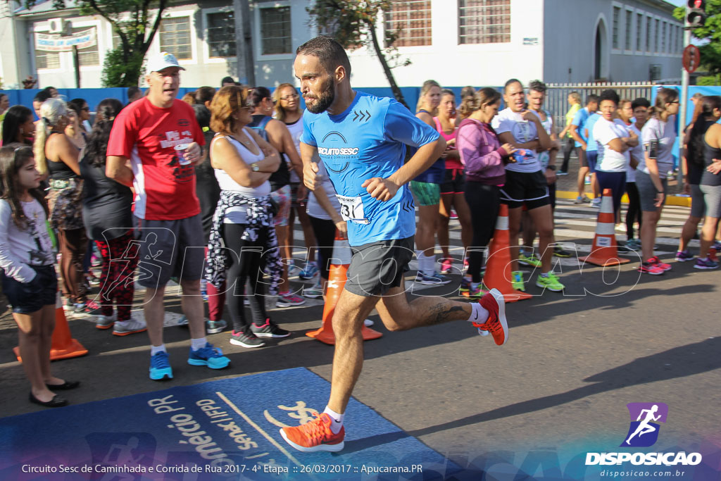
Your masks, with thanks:
M147 69L148 95L115 118L106 174L135 188L133 213L141 242L138 282L146 288L143 311L151 342L150 379L161 380L173 376L163 344L163 297L171 276L180 277L182 309L190 325L188 363L222 369L230 360L205 340L203 326L200 275L205 242L193 168L202 159L203 131L193 108L175 98L180 71L185 70L175 56L162 52L149 60ZM209 332L223 327L214 325Z

